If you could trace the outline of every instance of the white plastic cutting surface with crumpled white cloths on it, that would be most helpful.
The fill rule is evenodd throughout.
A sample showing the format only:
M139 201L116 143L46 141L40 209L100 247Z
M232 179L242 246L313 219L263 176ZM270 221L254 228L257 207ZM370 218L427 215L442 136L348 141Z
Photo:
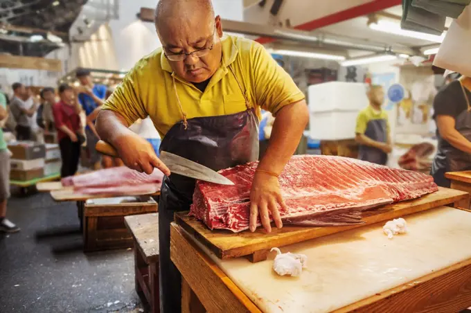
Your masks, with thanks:
M443 206L405 219L409 233L392 240L373 224L283 247L308 256L299 278L272 271L274 252L253 264L199 246L263 312L329 312L471 258L471 213Z

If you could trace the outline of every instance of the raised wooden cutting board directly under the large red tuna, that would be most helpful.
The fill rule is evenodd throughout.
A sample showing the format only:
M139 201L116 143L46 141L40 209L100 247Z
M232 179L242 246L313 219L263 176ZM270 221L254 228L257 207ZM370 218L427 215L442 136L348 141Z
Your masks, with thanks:
M196 220L195 217L189 217L188 212L176 213L175 222L213 251L218 258L250 256L252 262L259 262L266 260L269 249L272 249L272 247L283 247L287 244L303 242L458 202L462 202L460 204L461 207L468 208L469 197L470 195L463 191L439 188L436 193L425 195L420 199L399 202L398 204L384 206L374 211L368 211L363 219L365 224L339 227L283 226L282 229L273 228L272 233L269 234L265 233L261 227L254 233L250 231L242 231L240 233L223 230L211 231L202 222Z

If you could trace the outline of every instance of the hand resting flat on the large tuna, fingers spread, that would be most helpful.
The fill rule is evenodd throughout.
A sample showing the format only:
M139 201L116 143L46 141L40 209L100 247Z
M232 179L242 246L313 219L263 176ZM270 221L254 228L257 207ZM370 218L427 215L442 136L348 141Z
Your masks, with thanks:
M283 210L286 210L285 202L281 196L278 177L263 172L256 172L250 192L250 231L254 232L256 230L258 215L260 215L260 220L265 231L267 231L267 233L272 231L269 213L271 213L276 227L281 229L283 222L281 222L278 205L281 206Z

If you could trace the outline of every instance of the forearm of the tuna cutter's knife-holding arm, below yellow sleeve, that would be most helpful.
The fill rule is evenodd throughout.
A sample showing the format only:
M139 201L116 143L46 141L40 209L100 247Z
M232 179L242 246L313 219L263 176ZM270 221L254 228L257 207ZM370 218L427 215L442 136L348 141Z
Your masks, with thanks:
M109 110L101 110L95 122L96 131L100 138L113 146L116 146L116 140L124 134L133 134L127 126L123 116Z

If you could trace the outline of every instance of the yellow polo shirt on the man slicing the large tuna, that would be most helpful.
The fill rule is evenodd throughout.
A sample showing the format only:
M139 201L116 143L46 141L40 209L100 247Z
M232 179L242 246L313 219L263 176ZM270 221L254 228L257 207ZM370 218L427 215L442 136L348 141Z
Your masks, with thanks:
M175 76L181 106L187 118L221 116L244 111L245 100L238 81L251 105L272 114L285 105L303 100L303 93L262 45L235 36L222 38L222 60L204 92ZM150 116L161 138L183 119L172 84L172 69L158 48L136 63L106 100L103 109L121 114L128 125Z

